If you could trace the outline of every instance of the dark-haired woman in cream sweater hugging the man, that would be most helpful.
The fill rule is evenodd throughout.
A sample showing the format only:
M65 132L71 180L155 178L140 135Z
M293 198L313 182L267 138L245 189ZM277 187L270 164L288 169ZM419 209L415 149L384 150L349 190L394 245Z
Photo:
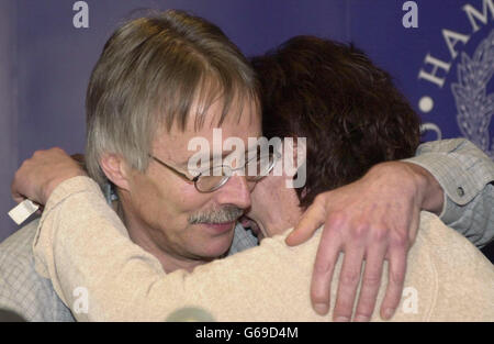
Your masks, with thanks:
M98 193L96 185L90 190L79 189L68 200L64 189L74 185L66 182L47 204L49 213L38 232L35 256L40 273L52 279L66 304L75 304L75 288L88 289L91 303L87 312L75 313L78 320L177 319L183 313L177 313L177 309L190 306L206 310L207 317L220 321L330 319L326 312L313 311L308 295L323 231L304 245L288 247L285 238L291 231L287 228L297 223L311 200L317 203L317 190L359 188L361 182L352 181L372 173L375 164L412 156L418 145L419 121L389 75L351 46L295 37L272 54L256 58L254 65L265 78L265 134L306 137L305 187L296 191L287 188L285 181L294 176L261 179L255 186L255 206L246 222L254 230L258 226L260 236L269 237L258 247L193 271L167 274L156 257L128 240L115 214L98 214L104 199L92 197ZM380 188L380 182L375 187ZM83 206L85 199L91 199L93 207ZM68 209L74 211L74 207L86 209L85 217L92 219L93 225L81 225L74 217L57 224L58 215ZM392 212L393 208L388 210ZM493 321L494 271L490 262L430 212L422 213L418 226L408 255L404 302L392 320ZM352 230L341 228L340 232L351 234ZM377 269L373 273L381 276L380 265L374 264L382 259L380 254L385 253L347 249L336 257L335 271L345 269L348 257L364 256L369 266L364 277L369 269ZM383 269L393 278L393 263ZM360 275L360 267L357 273ZM345 274L335 276L351 279ZM332 298L338 282L335 277ZM383 300L386 281L377 284L381 288L375 295ZM362 288L360 297L373 292ZM332 304L335 309L341 307L338 300ZM188 309L190 312L194 310ZM380 320L377 313L357 311L356 320L369 319Z

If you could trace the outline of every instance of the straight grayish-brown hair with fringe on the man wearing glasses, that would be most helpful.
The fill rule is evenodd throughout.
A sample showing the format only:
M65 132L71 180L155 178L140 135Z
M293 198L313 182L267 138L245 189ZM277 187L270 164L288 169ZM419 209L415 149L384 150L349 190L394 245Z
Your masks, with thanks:
M217 99L217 125L228 113L239 120L246 100L258 107L257 91L249 62L216 25L177 10L132 20L106 42L88 86L88 173L104 186L104 153L144 171L157 129L184 130L193 115L194 127L201 127Z

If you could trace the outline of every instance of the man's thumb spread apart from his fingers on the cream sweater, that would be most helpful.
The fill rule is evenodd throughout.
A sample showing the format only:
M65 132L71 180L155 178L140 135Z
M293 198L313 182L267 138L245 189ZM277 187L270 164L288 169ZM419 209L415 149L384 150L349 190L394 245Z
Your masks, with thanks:
M314 232L321 228L326 220L325 202L315 200L314 203L307 208L299 224L285 238L289 246L300 245L312 237Z

